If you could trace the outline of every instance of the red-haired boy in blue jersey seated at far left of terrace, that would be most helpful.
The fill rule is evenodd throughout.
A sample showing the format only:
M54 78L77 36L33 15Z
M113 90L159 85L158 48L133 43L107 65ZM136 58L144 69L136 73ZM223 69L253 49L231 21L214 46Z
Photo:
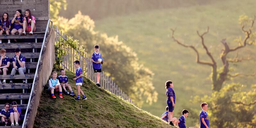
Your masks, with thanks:
M7 75L8 72L8 68L10 67L10 63L11 63L11 59L7 56L5 56L6 54L6 50L5 49L1 49L0 50L0 55L1 55L1 59L0 59L0 74L3 73L3 75ZM3 80L3 84L6 83L6 80ZM2 84L2 81L0 80L0 84Z

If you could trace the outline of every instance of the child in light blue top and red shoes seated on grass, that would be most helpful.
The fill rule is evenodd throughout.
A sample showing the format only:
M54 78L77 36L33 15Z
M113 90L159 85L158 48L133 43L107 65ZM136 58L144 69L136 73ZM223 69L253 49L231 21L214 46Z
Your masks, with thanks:
M59 97L63 98L63 96L62 96L62 88L61 88L60 82L56 78L57 78L57 72L54 71L54 72L52 72L52 78L49 80L49 88L48 88L48 91L51 91L52 99L56 98L54 96L54 90L56 92L60 91Z

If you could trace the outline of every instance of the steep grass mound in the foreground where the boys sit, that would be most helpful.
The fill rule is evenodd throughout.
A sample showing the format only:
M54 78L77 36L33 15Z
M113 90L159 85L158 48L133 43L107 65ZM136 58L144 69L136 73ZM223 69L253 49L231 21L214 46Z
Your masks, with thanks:
M58 72L58 71L57 71ZM59 73L59 72L58 72ZM58 74L59 75L59 74ZM68 78L74 73L66 71ZM34 127L35 128L170 128L159 117L136 108L119 97L97 87L88 78L83 77L81 87L87 100L75 101L64 95L52 100L45 90L42 94ZM68 79L75 94L75 82ZM45 89L48 84L45 85Z

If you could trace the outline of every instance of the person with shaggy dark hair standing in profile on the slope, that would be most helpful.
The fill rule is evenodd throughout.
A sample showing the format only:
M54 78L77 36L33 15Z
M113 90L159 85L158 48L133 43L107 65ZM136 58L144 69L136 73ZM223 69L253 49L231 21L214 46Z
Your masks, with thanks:
M166 103L169 107L168 109L168 118L169 119L172 119L172 115L173 115L173 110L174 110L174 107L175 107L175 93L174 93L174 90L172 89L173 88L173 83L172 81L166 81L165 82L165 89L166 89L166 96L167 96L167 100L166 100ZM172 121L169 122L170 125L174 125Z

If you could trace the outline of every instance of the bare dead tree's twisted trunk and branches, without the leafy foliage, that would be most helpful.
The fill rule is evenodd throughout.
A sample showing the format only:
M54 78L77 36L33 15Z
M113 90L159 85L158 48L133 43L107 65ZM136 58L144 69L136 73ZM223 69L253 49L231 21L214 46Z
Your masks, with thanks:
M222 61L222 68L223 70L221 70L220 72L217 72L217 63L215 61L215 59L213 58L212 54L209 52L207 46L204 43L204 35L207 34L209 32L209 27L207 28L207 30L203 33L203 34L199 34L198 31L197 35L201 38L201 43L203 45L203 48L206 52L206 54L208 55L208 57L211 59L211 61L205 61L205 60L200 60L200 55L198 50L196 49L195 46L193 45L188 45L188 44L184 44L182 42L180 42L180 40L176 39L174 37L174 32L175 29L171 29L172 30L172 39L180 44L183 47L187 47L187 48L191 48L196 52L196 62L198 64L202 64L202 65L208 65L212 67L212 84L213 84L213 91L220 91L220 89L222 88L222 84L227 80L228 76L230 77L236 77L236 76L255 76L256 73L253 74L244 74L244 73L236 73L235 75L231 75L229 74L229 62L241 62L242 60L250 60L251 57L249 56L248 58L238 58L238 55L236 55L235 58L227 58L228 53L230 52L235 52L238 49L244 48L247 44L248 44L248 40L250 39L250 36L252 34L252 27L255 21L255 16L254 19L252 20L251 26L248 28L248 30L245 30L245 26L242 25L242 31L244 32L245 36L244 36L244 40L241 42L240 45L234 47L234 48L230 48L226 42L226 39L222 39L220 42L224 45L221 53L220 53L220 59ZM248 44L251 45L251 44Z

